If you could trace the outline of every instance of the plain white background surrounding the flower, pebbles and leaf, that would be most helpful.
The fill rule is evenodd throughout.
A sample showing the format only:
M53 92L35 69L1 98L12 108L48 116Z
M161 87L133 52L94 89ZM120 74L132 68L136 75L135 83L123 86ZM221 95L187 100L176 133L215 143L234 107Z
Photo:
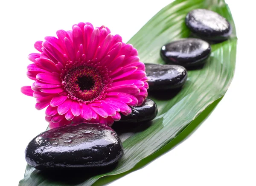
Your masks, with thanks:
M79 22L106 25L126 42L154 14L170 3L155 1L24 1L0 3L1 135L3 186L15 186L26 167L24 150L47 128L44 110L20 93L34 42L70 30ZM252 0L227 0L236 23L236 73L226 96L182 144L111 186L255 186L256 185L256 39ZM243 5L244 4L244 5Z

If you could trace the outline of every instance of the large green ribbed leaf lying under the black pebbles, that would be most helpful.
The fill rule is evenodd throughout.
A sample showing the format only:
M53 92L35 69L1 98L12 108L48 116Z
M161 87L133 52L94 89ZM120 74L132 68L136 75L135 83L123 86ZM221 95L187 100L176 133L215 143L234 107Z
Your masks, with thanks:
M104 185L140 169L172 149L201 124L215 108L229 87L236 62L236 29L224 0L176 0L159 11L128 43L139 51L142 62L163 63L160 48L175 39L189 37L186 14L195 8L218 12L233 26L229 40L212 45L212 54L201 69L189 70L188 80L178 92L158 93L149 98L157 103L159 113L148 124L131 128L119 125L125 153L118 165L108 172L55 172L52 174L26 167L20 186L34 185Z

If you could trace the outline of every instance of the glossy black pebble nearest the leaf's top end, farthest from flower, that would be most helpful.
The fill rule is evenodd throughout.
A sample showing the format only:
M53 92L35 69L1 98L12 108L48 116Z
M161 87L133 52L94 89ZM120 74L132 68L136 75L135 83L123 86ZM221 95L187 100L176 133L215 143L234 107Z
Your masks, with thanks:
M195 9L186 15L186 25L198 37L211 41L223 41L232 33L230 23L214 11Z

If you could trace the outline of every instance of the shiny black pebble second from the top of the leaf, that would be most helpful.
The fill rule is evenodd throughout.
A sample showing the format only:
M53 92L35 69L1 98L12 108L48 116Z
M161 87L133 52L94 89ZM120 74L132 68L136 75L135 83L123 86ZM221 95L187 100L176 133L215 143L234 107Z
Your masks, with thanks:
M201 65L211 54L211 46L202 39L180 39L163 45L160 56L167 64L192 67Z

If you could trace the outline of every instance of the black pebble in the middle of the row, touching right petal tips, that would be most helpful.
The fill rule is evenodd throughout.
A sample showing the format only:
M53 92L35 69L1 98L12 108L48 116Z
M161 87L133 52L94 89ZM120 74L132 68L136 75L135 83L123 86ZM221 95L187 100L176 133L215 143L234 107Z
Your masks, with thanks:
M180 65L145 64L149 90L170 90L182 87L187 79L186 68Z

